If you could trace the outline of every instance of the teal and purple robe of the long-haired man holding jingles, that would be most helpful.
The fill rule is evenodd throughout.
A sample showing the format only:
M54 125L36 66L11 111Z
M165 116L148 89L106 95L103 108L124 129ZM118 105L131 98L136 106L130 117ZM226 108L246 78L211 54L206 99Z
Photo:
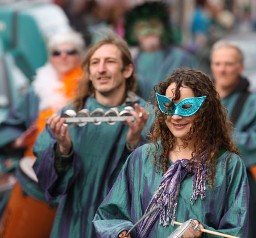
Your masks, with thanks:
M145 105L142 98L137 98L135 102L141 107L146 107L146 111L151 109L151 106ZM126 103L118 108L123 110L125 106L133 106L133 103ZM85 107L90 112L96 108L102 108L104 111L110 109L92 97L86 99ZM153 120L154 114L151 114L142 132L144 143ZM71 133L74 156L67 173L63 176L56 173L56 139L48 126L40 133L33 148L37 158L34 170L48 201L61 198L51 237L94 238L94 214L129 155L123 152L127 151L126 135L129 126L120 122L114 125L88 123L84 127L71 125L68 130Z

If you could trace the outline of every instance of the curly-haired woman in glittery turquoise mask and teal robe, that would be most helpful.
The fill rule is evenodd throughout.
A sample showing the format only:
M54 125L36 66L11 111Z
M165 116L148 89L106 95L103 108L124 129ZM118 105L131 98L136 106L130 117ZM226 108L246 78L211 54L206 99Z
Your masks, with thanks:
M232 124L209 77L177 69L154 87L151 143L127 159L94 217L98 237L168 237L189 219L199 228L247 237L246 170ZM191 228L184 237L216 237Z

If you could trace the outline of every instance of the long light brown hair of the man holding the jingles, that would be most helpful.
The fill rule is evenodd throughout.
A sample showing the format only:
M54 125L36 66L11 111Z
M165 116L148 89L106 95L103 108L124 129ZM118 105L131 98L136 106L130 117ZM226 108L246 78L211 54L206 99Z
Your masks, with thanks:
M105 44L113 44L116 45L117 48L121 51L122 55L122 63L124 70L127 65L132 64L134 66L133 59L131 57L131 53L129 51L129 47L125 40L121 37L117 36L111 31L102 31L101 39L96 41L95 44L91 45L86 53L85 59L82 61L81 67L84 71L84 75L80 78L79 85L76 90L76 97L73 100L73 107L76 107L77 110L81 110L84 106L85 99L94 93L94 87L92 85L92 81L89 80L89 62L90 58L92 57L93 53L100 48L102 45ZM126 80L126 93L128 91L135 91L136 87L136 77L135 73L131 74L129 78ZM123 99L127 97L127 95L123 95Z

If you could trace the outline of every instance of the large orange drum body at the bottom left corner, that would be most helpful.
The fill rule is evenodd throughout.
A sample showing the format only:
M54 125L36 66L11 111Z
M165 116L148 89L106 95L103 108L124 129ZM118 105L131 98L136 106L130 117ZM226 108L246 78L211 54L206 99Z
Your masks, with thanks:
M0 236L4 238L49 237L57 208L24 195L16 182L3 212Z

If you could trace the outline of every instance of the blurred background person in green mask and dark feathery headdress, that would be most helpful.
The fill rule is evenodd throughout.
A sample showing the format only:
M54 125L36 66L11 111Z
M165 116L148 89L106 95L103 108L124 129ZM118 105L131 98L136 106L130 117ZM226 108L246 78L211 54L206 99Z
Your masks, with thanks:
M146 2L125 13L125 39L138 78L137 93L146 101L153 87L176 68L195 68L193 56L174 43L168 6Z

